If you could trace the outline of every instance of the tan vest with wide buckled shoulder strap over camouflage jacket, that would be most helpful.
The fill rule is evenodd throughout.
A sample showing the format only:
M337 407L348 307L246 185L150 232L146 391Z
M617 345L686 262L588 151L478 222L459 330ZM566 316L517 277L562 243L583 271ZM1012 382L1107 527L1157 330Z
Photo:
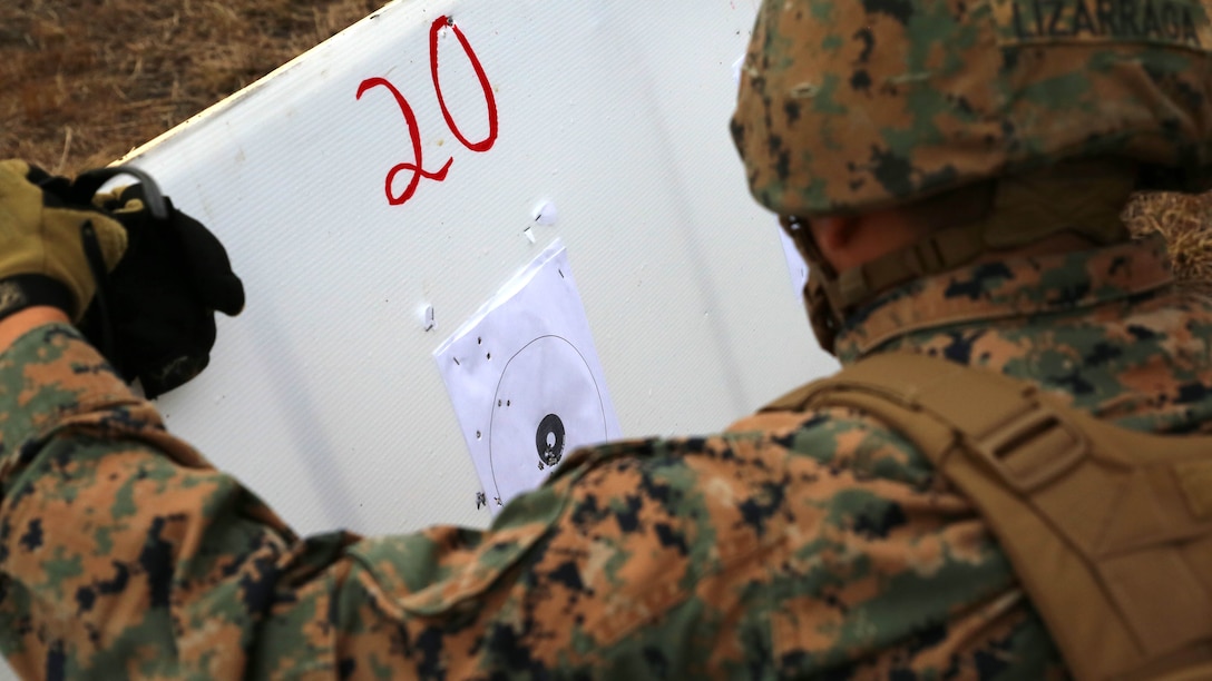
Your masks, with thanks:
M1080 680L1212 680L1212 437L1102 423L990 371L882 354L765 411L852 407L979 510Z

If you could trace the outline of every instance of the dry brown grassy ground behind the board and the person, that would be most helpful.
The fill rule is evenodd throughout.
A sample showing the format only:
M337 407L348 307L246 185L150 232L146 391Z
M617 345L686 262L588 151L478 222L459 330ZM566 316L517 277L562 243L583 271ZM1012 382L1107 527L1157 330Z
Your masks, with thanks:
M105 165L384 4L0 0L0 159ZM1140 195L1127 218L1212 282L1212 194Z

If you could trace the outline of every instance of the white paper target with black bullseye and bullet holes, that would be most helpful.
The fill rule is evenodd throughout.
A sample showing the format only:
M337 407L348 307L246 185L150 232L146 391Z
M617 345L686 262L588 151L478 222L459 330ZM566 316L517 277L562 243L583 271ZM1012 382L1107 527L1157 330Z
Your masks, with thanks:
M493 515L577 447L621 436L559 240L434 357Z

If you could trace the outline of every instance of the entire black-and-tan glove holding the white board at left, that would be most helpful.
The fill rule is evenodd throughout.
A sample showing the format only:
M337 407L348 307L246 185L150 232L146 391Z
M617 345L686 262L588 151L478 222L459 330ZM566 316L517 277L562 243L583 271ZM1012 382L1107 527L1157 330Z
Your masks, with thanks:
M143 184L96 196L119 174ZM144 173L101 168L70 181L0 161L0 319L33 305L64 310L155 397L206 367L215 311L239 314L244 286L215 235Z

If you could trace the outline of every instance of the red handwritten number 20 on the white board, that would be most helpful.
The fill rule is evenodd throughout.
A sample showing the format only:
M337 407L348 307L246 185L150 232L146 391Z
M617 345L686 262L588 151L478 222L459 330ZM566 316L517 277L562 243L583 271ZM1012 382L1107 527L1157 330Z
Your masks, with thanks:
M442 28L450 27L454 32L454 38L458 39L459 45L463 46L463 52L467 55L468 61L471 63L471 69L475 71L475 78L480 82L480 87L484 90L484 101L488 107L488 135L479 142L471 142L468 139L463 131L458 128L458 124L454 122L454 116L451 115L450 108L446 107L446 99L442 97L441 81L438 78L438 35ZM434 81L434 93L438 96L438 105L441 107L442 118L446 119L446 127L450 128L451 133L468 149L476 153L484 153L492 149L492 145L497 142L497 99L492 96L492 84L488 82L488 76L484 73L484 67L480 64L480 59L475 56L475 50L471 48L471 44L468 42L467 36L459 30L450 17L438 17L434 23L429 27L429 73ZM391 85L385 78L368 78L364 80L358 86L358 99L362 98L362 95L373 87L385 87L388 92L395 98L396 105L400 107L400 113L404 114L404 122L408 127L408 138L412 142L412 161L396 164L388 173L385 182L385 193L388 204L393 206L399 206L412 199L412 195L417 193L417 187L421 184L421 179L433 179L435 182L442 182L446 179L446 171L450 170L451 164L454 162L453 158L446 160L442 167L436 171L427 171L423 167L423 150L421 145L421 130L417 126L417 116L412 113L412 107L408 101L400 93L400 91ZM408 171L412 177L408 179L408 185L405 187L401 194L394 194L391 187L395 183L395 176L400 172Z

